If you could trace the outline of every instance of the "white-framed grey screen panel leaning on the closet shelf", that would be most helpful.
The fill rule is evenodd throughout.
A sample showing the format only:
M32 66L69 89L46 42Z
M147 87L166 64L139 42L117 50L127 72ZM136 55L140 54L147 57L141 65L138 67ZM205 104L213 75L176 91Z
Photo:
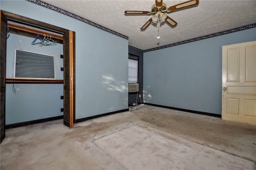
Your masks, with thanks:
M54 56L15 50L14 77L55 79Z

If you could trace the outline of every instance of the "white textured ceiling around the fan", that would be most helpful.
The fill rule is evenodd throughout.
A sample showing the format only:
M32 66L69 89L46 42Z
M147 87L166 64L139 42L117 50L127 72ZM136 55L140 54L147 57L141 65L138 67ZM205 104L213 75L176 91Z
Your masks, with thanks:
M150 11L154 0L42 0L48 4L81 16L100 26L128 36L129 45L141 50L157 48L256 23L256 0L200 0L198 6L168 12L178 22L174 28L150 24L140 28L152 14L124 15L125 10ZM164 0L173 6L187 0Z

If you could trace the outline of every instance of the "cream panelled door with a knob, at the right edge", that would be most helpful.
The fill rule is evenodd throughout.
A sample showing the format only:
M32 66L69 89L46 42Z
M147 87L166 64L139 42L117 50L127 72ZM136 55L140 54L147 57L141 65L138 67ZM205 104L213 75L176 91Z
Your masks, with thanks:
M256 124L256 41L222 46L222 119Z

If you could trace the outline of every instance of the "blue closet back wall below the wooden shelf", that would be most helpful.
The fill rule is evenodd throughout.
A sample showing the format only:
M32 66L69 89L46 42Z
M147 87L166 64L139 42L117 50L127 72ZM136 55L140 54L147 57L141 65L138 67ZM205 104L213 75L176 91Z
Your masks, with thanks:
M62 116L63 84L6 84L6 125Z

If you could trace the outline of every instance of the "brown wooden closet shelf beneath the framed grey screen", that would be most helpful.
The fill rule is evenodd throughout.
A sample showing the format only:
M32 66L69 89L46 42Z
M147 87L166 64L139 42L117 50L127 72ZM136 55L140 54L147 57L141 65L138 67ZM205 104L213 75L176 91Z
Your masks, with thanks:
M12 83L45 83L45 84L63 84L63 79L48 79L48 78L6 78L6 84Z

